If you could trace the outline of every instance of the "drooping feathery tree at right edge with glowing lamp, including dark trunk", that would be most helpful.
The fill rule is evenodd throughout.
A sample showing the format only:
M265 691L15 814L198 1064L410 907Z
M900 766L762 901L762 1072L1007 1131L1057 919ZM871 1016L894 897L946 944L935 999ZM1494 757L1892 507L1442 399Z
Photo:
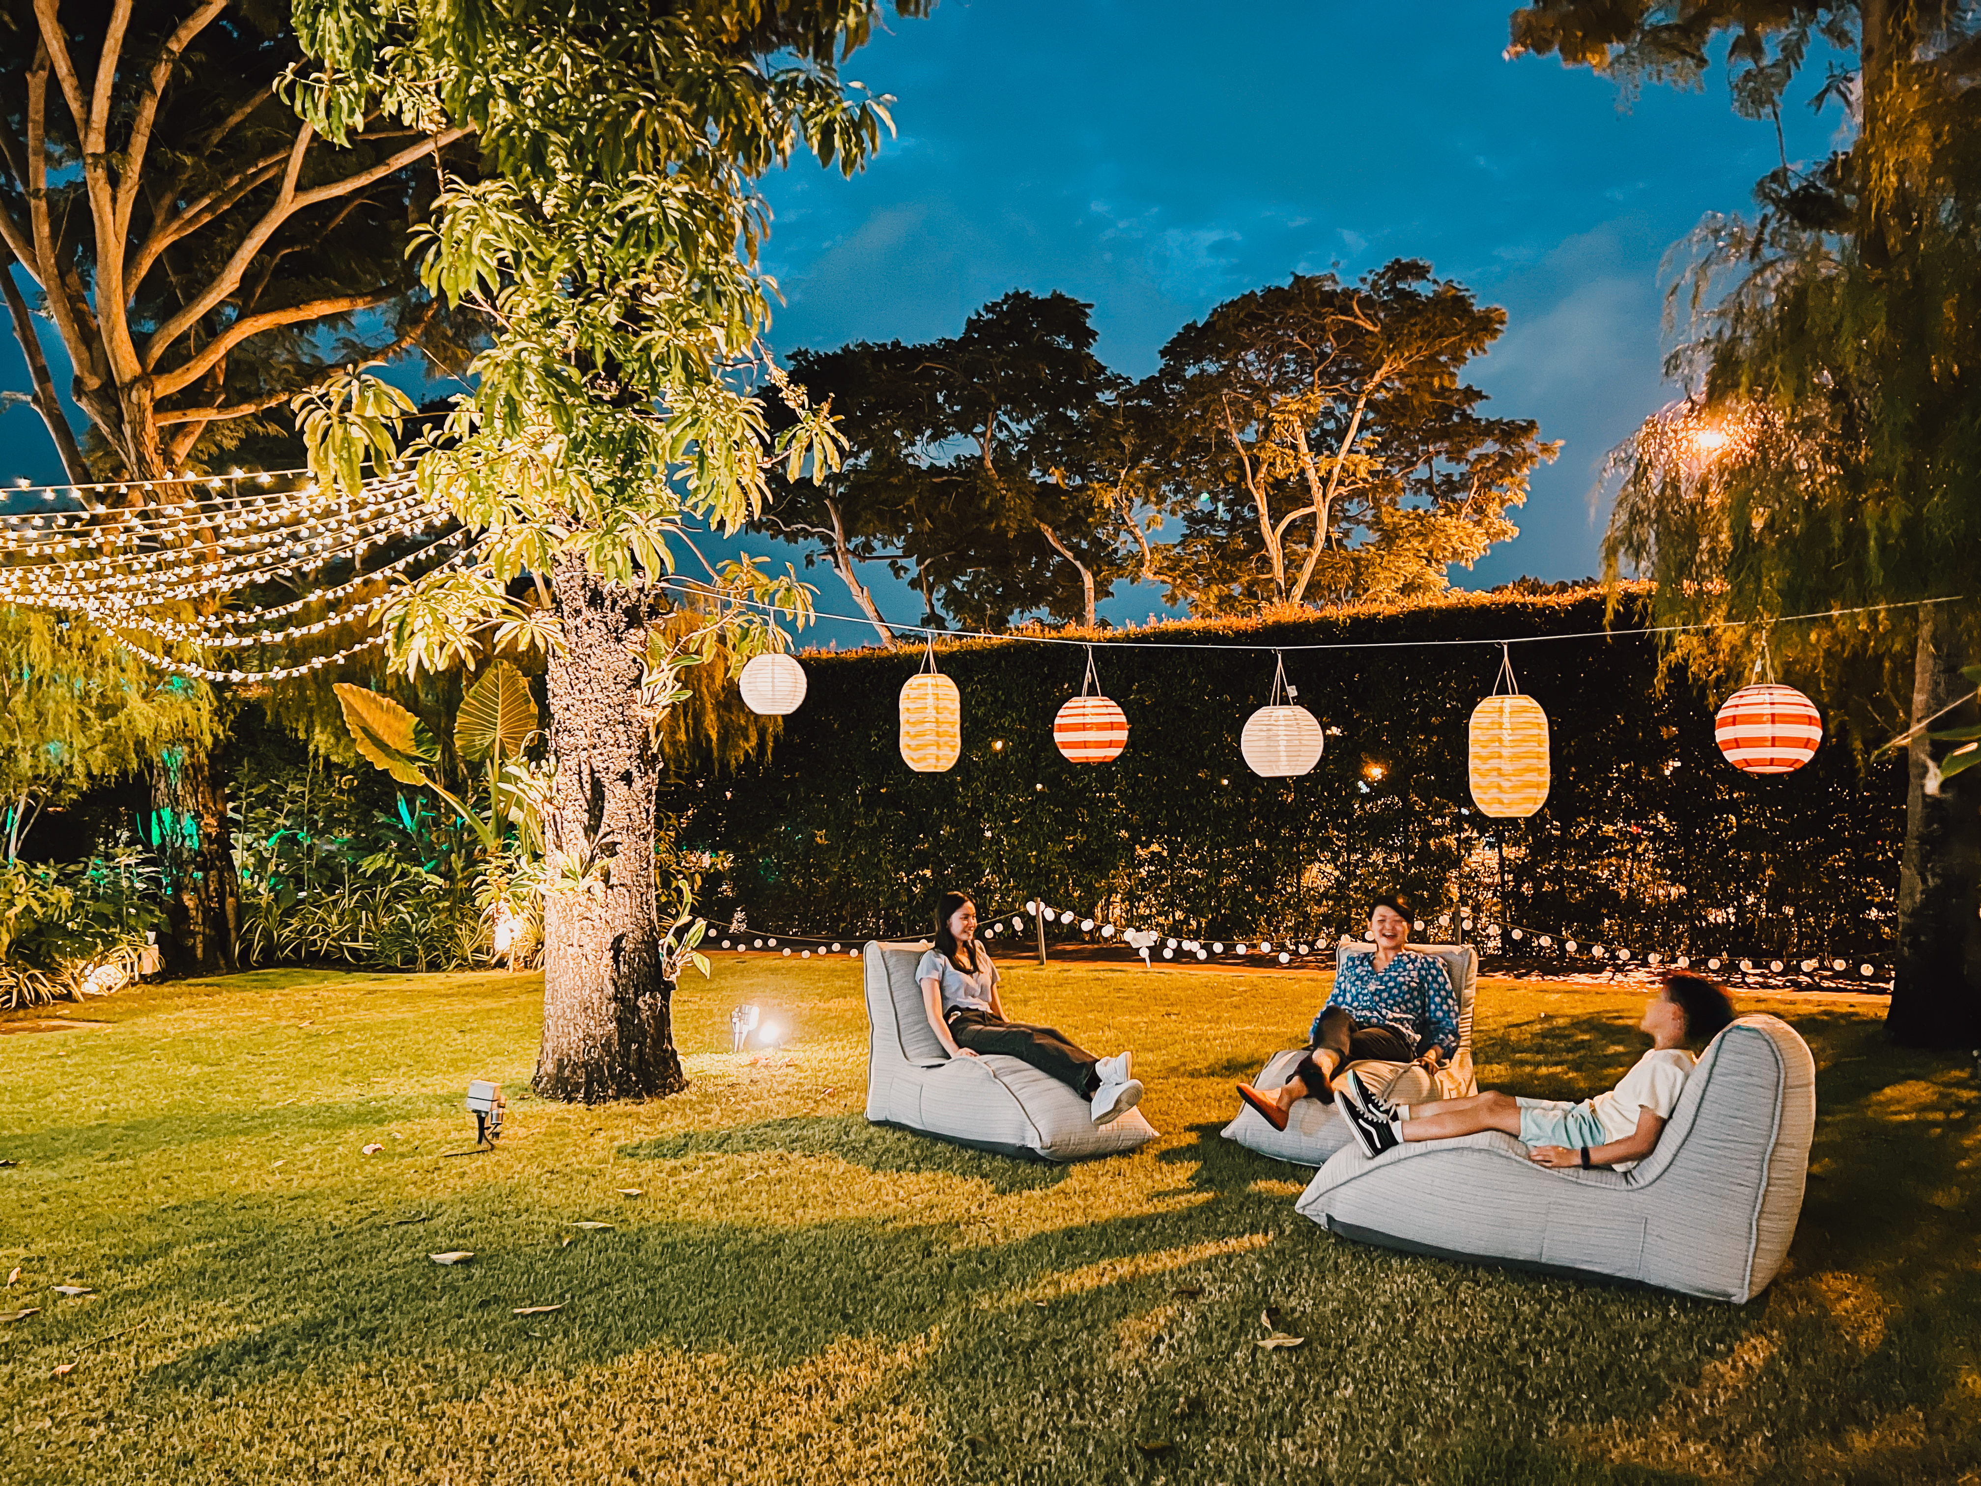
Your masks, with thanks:
M1971 6L1743 6L1547 0L1513 50L1626 85L1696 81L1727 38L1733 107L1775 119L1815 42L1842 53L1809 101L1848 149L1785 155L1753 220L1710 216L1678 252L1690 400L1615 462L1611 575L1656 579L1702 676L1769 654L1858 723L1910 749L1900 953L1888 1026L1904 1042L1981 1040L1981 779L1941 777L1935 729L1973 721L1981 656L1981 16ZM1870 612L1858 612L1870 610ZM1783 614L1826 614L1769 626ZM1965 741L1965 739L1961 739Z

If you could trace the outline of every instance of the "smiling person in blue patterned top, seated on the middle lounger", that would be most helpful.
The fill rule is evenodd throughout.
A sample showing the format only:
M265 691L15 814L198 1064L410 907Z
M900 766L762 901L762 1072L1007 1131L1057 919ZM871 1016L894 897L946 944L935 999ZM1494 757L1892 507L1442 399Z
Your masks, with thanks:
M1351 1062L1422 1062L1436 1068L1458 1052L1458 993L1444 961L1407 949L1410 909L1377 898L1369 909L1373 951L1349 955L1321 1014L1307 1028L1307 1056L1282 1088L1238 1086L1238 1098L1274 1129L1286 1129L1296 1100L1335 1102L1333 1080Z

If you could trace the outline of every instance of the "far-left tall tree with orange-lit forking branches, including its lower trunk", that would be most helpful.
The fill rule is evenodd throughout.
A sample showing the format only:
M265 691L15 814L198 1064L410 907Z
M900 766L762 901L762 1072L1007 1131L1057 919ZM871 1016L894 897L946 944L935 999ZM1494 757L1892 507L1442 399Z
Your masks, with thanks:
M301 53L267 0L6 0L0 24L0 287L71 481L129 479L143 503L143 481L267 432L271 408L347 363L422 341L450 355L404 248L466 129L374 113L325 141L275 93ZM158 789L200 822L174 929L198 969L232 969L238 882L202 739L170 751Z

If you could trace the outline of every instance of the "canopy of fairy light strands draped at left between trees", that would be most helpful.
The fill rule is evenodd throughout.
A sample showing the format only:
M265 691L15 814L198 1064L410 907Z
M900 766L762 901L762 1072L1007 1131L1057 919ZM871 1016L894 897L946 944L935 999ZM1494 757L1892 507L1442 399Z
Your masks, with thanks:
M396 592L366 588L466 567L485 547L406 474L366 479L357 491L323 485L307 470L236 470L22 485L8 497L16 509L0 513L0 602L83 616L147 664L204 682L291 680L382 646L384 634L363 634L327 654L265 664L271 650L370 630ZM390 561L365 567L366 555L388 549ZM325 583L339 563L353 575ZM256 590L269 586L301 592L256 602ZM164 646L236 652L228 660L256 650L263 664L202 664L210 658L160 654Z

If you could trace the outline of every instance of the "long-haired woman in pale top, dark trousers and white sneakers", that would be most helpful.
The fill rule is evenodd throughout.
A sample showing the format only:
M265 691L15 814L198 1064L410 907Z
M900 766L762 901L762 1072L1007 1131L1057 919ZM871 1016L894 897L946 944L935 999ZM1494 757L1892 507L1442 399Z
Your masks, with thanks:
M921 981L929 1026L951 1058L1000 1052L1028 1062L1092 1102L1095 1125L1141 1102L1133 1052L1095 1058L1054 1026L1004 1020L996 965L977 943L977 905L969 896L943 894L935 907L935 947L921 957L915 979Z

